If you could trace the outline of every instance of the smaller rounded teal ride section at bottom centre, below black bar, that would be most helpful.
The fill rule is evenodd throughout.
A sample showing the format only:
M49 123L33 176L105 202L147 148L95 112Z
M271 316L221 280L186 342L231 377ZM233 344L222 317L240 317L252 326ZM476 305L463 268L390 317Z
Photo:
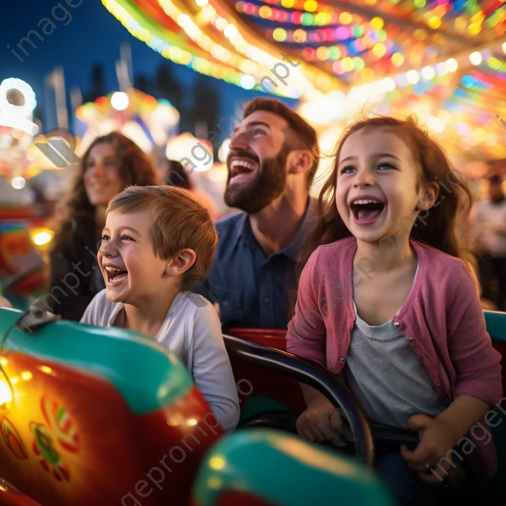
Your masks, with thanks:
M251 429L221 439L205 455L192 506L393 506L364 465L285 432Z

